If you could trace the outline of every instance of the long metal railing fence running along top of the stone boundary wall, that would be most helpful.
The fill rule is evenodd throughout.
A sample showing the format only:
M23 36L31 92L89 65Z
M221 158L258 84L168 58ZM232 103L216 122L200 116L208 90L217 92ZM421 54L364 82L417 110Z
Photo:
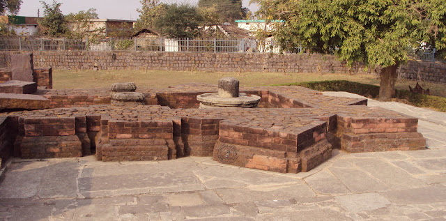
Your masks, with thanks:
M11 51L146 51L146 52L260 52L279 53L272 41L236 38L105 38L98 40L40 38L33 36L0 37L0 50ZM300 53L295 48L286 53ZM303 51L305 52L305 50Z

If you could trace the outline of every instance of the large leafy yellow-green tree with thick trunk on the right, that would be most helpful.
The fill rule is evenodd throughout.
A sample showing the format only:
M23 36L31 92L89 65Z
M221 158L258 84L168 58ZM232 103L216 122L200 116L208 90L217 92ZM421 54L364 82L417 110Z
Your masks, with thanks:
M310 52L335 54L348 66L356 61L381 66L380 100L394 96L397 68L408 61L409 48L423 42L444 47L446 42L438 38L444 29L437 35L429 31L444 27L440 21L445 17L444 0L260 0L260 4L268 19L285 21L275 33L283 48L302 45ZM430 20L431 10L437 24Z

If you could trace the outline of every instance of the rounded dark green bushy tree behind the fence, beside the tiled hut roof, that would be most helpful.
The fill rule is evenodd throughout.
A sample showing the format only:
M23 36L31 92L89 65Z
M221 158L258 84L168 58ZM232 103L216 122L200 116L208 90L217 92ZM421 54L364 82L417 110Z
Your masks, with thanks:
M169 38L194 38L203 17L197 7L187 3L164 5L164 13L155 20L155 27Z

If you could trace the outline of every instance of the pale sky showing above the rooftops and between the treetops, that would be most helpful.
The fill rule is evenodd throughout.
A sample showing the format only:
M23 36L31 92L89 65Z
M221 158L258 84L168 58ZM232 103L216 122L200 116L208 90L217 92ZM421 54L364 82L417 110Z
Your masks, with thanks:
M40 8L40 17L43 16L42 4L40 0L23 0L22 6L18 15L37 17L37 10ZM198 0L161 0L165 3L182 3L187 2L197 4ZM46 3L52 4L52 0L45 0ZM88 10L89 8L96 8L99 18L116 19L116 20L136 20L139 17L137 8L141 8L139 0L57 0L62 3L61 10L63 15L69 13L77 13L79 10ZM258 6L252 4L249 6L249 0L243 0L243 7L248 7L255 11Z

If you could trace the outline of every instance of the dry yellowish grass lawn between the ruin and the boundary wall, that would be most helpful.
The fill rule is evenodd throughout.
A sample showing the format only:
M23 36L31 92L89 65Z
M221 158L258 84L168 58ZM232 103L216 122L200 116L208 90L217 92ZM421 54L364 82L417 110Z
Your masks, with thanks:
M379 85L374 75L319 74L319 73L220 73L166 70L53 70L54 89L89 89L109 87L115 82L135 82L140 87L165 88L191 82L217 84L222 77L236 77L240 86L265 86L293 82L348 80L363 84ZM445 84L419 82L430 89L433 96L446 97ZM397 89L408 90L414 81L399 79Z

